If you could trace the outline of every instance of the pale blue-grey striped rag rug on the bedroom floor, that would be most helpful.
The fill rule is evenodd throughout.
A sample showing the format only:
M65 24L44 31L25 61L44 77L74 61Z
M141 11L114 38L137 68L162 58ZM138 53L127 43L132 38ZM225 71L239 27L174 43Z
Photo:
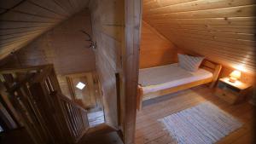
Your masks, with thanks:
M242 125L210 102L203 102L159 121L178 144L212 144Z

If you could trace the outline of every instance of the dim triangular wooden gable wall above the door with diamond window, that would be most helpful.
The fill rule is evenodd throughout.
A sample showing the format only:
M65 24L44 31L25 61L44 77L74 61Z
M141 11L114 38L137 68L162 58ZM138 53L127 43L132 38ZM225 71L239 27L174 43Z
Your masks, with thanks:
M26 47L9 56L2 67L37 66L53 63L57 74L95 70L95 54L89 49L88 38L81 30L91 33L89 9L64 21L38 37Z

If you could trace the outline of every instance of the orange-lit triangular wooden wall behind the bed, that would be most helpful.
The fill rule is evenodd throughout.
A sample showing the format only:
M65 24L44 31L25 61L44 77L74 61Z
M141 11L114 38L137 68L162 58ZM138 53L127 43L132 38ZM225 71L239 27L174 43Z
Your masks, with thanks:
M140 68L177 62L177 48L154 27L143 21L140 44Z

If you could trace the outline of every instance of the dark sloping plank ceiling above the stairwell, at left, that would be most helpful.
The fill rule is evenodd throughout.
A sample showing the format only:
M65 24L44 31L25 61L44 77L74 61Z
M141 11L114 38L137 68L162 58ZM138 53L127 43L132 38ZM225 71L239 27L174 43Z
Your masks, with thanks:
M0 0L0 60L88 7L89 0Z

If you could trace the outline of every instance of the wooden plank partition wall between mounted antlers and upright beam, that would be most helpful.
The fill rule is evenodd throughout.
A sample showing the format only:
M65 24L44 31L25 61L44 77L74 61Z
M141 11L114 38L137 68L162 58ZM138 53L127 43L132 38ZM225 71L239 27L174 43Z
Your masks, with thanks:
M93 0L89 5L106 122L115 128L119 125L115 73L122 71L123 5L123 1L115 0Z

